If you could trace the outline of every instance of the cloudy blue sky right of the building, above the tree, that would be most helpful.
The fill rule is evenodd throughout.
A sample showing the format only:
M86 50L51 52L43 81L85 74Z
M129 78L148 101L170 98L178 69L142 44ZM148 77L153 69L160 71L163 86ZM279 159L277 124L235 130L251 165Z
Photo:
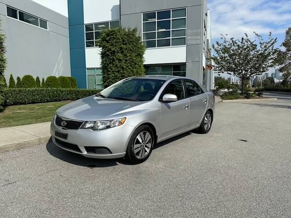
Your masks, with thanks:
M246 32L284 34L291 25L291 0L209 0L212 38Z

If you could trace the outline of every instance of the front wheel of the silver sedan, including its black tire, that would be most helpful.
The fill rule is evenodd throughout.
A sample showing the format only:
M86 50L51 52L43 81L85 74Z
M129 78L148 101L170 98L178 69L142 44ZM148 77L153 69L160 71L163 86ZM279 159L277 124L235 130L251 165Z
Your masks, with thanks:
M150 142L147 141L147 143L145 143L145 141L148 139L146 132L149 133L150 135L150 140L149 140ZM138 139L138 136L139 138L141 138L140 134L144 136L144 139L147 136L147 139L144 140L144 143L140 143L139 145L140 140ZM149 143L151 144L150 148L148 148ZM154 144L155 144L155 137L154 137L153 130L148 125L141 125L134 131L134 133L130 137L129 144L126 150L126 156L125 156L126 160L128 160L132 164L139 164L139 163L144 162L150 156L153 150ZM139 148L140 150L138 150Z

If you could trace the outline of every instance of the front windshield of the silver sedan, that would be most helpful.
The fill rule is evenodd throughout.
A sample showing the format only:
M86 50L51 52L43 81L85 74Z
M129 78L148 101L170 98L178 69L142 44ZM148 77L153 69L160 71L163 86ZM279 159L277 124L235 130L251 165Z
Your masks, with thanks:
M128 101L149 101L158 93L164 80L147 78L129 78L119 82L97 96Z

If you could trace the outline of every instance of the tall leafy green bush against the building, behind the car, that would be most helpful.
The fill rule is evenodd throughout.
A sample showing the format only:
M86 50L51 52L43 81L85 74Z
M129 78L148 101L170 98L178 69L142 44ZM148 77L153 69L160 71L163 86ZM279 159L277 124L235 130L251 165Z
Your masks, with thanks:
M105 88L121 79L145 74L146 47L137 28L102 31L97 46L102 48L102 80Z

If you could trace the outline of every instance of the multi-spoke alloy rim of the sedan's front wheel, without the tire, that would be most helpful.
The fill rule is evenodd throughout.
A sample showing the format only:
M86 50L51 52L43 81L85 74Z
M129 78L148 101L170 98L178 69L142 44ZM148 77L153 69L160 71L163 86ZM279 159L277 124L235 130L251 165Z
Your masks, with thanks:
M147 131L140 132L133 145L134 155L138 159L143 159L148 156L150 149L152 147L152 138Z

